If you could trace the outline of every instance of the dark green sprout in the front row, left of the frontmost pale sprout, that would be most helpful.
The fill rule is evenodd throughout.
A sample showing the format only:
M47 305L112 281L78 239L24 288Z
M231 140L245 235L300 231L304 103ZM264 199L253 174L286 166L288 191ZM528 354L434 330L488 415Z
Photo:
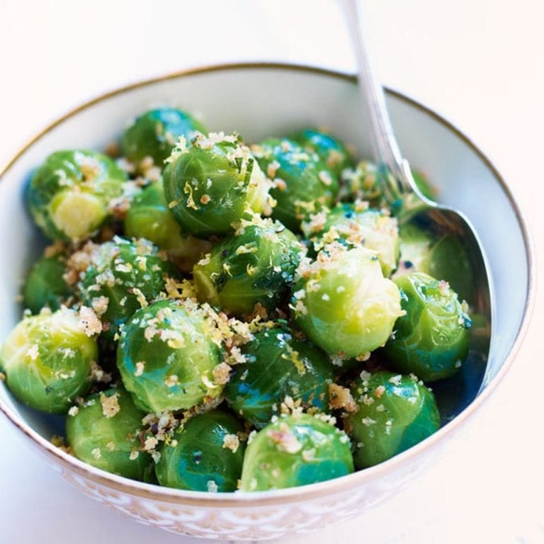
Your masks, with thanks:
M161 449L155 474L161 485L193 491L237 489L242 474L244 427L227 412L195 416Z

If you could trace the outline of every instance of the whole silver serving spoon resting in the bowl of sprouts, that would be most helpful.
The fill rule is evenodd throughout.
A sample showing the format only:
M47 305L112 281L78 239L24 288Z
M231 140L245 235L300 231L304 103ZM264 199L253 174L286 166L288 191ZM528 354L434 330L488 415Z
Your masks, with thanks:
M471 397L474 397L477 392L487 386L497 370L493 368L489 351L493 306L491 276L488 272L485 251L477 233L463 213L438 205L423 196L417 188L410 166L400 153L385 106L383 89L373 72L363 34L358 0L343 0L343 2L344 15L356 55L359 89L370 120L374 158L381 174L380 183L385 198L396 210L400 225L405 222L415 222L423 225L427 231L430 230L437 237L448 234L458 239L472 267L472 285L465 286L472 293L472 297L467 302L470 303L471 311L485 320L477 330L478 341L475 343L477 344L475 349L478 353L473 354L480 357L482 364L485 364L485 372L483 376L481 373L479 376L480 389L469 393ZM452 263L452 266L455 266L455 263ZM465 402L471 400L472 398L465 399ZM456 407L455 410L463 409L463 407Z

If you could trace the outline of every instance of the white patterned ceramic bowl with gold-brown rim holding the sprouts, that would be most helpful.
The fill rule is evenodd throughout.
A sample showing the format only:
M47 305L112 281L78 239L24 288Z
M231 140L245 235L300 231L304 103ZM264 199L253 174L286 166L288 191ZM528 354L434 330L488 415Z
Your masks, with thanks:
M44 241L23 205L23 186L57 149L103 149L138 113L174 105L199 115L212 130L237 130L248 142L305 126L326 126L370 156L363 108L353 76L285 64L229 64L142 81L76 108L33 138L0 175L0 339L18 322L14 302L21 278ZM16 402L0 385L0 410L46 463L103 504L167 531L224 540L278 538L345 521L392 497L416 478L480 412L514 361L533 301L531 244L508 186L459 130L428 108L387 91L392 123L404 155L436 183L440 200L465 212L487 251L494 293L492 379L482 392L463 390L452 421L385 463L318 484L269 492L186 492L118 477L81 463L50 443L62 421ZM492 212L490 212L492 210ZM13 236L16 233L16 236ZM508 251L505 251L508 248Z

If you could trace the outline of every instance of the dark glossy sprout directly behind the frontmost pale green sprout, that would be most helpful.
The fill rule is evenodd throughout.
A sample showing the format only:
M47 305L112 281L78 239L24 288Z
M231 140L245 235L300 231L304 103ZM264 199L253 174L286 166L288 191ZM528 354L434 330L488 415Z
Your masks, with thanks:
M327 411L334 373L322 351L276 327L256 333L243 353L247 362L234 365L225 396L251 424L266 425L286 397L304 408Z

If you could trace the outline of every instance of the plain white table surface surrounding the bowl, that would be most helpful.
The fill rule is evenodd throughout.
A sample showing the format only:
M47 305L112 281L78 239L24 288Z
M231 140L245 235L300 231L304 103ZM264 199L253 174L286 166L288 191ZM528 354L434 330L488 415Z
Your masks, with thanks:
M382 81L443 113L487 152L542 249L542 2L368 0L368 6ZM354 65L334 0L0 0L0 164L94 94L234 60ZM541 302L504 382L436 465L359 519L282 542L543 543ZM142 526L87 499L2 418L0 444L0 543L202 542Z

